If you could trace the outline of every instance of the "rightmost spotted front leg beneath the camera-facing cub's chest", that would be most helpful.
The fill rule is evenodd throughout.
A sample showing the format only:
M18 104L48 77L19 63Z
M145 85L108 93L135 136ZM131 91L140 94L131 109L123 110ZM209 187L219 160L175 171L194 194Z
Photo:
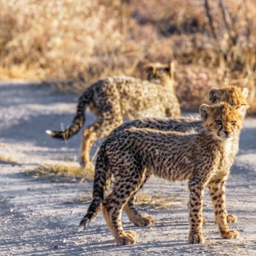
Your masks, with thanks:
M211 180L209 188L211 191L211 201L214 206L215 221L219 226L221 237L231 239L239 236L237 230L230 230L227 223L235 222L236 216L227 215L226 209L226 194L225 194L225 179Z

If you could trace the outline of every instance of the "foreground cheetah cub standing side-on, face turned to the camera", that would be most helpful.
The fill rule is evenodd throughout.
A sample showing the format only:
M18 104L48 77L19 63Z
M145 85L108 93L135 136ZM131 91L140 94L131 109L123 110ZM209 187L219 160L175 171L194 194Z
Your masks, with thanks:
M238 147L246 106L221 102L200 106L204 129L182 133L146 128L127 128L112 134L100 147L95 165L93 201L81 220L83 230L100 211L115 237L116 244L135 243L136 233L124 231L122 209L136 225L152 225L150 216L133 206L134 196L150 175L167 180L188 180L189 242L204 243L202 234L202 200L209 186L215 221L221 237L236 238L239 233L227 225L225 182ZM156 153L157 152L157 153ZM111 193L105 195L111 175L115 178Z

